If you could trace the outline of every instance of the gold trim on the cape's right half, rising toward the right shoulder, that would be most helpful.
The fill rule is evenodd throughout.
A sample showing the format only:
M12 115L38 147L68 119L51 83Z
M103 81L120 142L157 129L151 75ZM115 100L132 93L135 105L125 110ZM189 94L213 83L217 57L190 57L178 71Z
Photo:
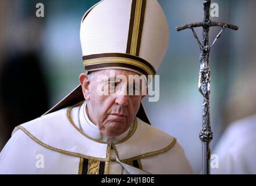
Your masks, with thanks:
M173 138L173 141L170 143L170 145L166 146L166 148L163 148L161 150L158 150L158 151L153 151L153 152L148 152L148 153L144 153L142 155L138 155L138 156L134 156L132 158L128 158L128 159L123 159L123 160L120 160L119 158L119 153L118 153L118 149L116 149L116 146L113 145L113 149L115 150L116 152L116 156L118 156L118 159L122 162L122 163L126 163L126 162L131 162L133 160L136 160L136 159L142 159L142 158L146 158L146 157L149 157L149 156L154 156L154 155L158 155L160 153L163 153L163 152L166 152L168 151L169 149L171 149L175 144L176 144L176 138Z

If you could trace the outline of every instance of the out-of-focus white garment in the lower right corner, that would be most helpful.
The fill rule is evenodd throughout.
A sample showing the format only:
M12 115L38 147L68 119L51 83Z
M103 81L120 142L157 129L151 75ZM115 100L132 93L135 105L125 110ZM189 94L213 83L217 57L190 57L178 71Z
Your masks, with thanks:
M212 174L256 174L256 115L230 124L216 145Z

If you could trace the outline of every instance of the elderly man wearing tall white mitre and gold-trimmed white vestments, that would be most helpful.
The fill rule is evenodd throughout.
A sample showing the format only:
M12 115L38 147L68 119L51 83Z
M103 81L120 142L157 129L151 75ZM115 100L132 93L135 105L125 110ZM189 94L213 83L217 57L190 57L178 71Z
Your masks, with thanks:
M0 173L193 173L176 139L152 127L141 104L168 48L158 2L101 1L81 20L80 40L80 85L13 131Z

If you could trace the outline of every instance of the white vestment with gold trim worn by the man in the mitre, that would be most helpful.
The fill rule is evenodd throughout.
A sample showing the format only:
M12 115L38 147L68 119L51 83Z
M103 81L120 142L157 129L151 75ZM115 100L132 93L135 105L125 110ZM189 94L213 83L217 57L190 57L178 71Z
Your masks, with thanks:
M84 111L85 103L20 125L0 153L0 174L193 173L172 136L136 117L106 137Z

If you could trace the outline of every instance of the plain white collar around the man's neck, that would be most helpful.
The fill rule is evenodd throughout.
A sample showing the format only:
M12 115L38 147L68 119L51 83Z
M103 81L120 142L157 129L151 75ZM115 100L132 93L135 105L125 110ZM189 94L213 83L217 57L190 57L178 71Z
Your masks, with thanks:
M83 105L80 106L80 112L79 112L79 118L81 123L81 128L84 131L85 134L90 136L91 138L94 138L95 140L101 140L101 141L118 141L122 138L125 138L130 131L130 128L125 131L125 133L118 135L116 137L110 137L108 135L104 135L99 131L99 128L89 119L87 112L86 112L86 105L87 102L85 101Z

